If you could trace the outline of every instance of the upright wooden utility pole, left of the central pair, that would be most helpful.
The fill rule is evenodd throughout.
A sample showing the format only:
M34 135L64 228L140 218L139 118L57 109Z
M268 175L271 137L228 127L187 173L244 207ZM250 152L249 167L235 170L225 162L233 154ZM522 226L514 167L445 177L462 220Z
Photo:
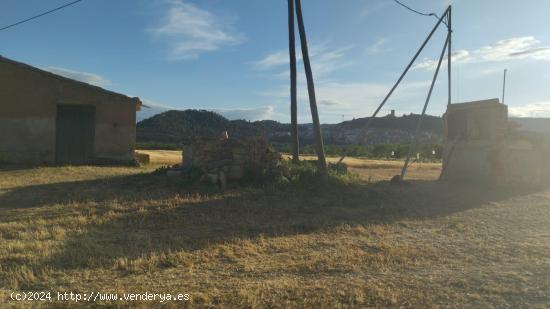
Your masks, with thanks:
M288 0L288 54L290 56L290 126L292 143L292 162L300 161L300 142L298 137L298 95L296 82L296 38L294 35L294 0Z

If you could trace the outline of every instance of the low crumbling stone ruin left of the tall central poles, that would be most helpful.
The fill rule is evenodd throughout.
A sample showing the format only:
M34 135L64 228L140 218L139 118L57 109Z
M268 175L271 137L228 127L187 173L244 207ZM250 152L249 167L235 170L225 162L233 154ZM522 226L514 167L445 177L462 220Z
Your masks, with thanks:
M199 168L203 181L225 187L227 181L244 177L264 179L281 175L281 154L263 138L198 139L183 147L182 172Z

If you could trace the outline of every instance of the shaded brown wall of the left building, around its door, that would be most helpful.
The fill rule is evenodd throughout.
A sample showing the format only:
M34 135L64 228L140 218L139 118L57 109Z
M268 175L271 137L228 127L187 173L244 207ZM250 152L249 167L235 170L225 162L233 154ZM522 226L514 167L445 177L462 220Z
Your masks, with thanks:
M96 108L94 156L131 160L137 99L0 60L0 161L55 162L59 104Z

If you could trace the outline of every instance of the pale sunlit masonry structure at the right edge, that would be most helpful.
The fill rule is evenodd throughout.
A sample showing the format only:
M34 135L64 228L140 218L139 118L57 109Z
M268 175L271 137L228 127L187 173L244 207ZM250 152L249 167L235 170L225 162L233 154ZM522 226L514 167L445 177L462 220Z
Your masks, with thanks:
M456 120L458 115L465 121ZM508 109L498 100L451 105L444 117L443 178L493 185L550 181L550 145L508 132ZM456 130L465 123L464 130ZM454 126L454 127L453 127ZM460 138L450 132L463 131Z

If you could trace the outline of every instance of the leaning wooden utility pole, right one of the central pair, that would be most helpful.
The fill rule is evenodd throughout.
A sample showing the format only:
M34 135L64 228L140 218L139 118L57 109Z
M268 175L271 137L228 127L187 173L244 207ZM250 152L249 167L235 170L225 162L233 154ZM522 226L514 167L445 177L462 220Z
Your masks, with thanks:
M317 99L315 98L315 85L313 83L313 72L309 62L309 51L307 48L306 30L304 18L302 16L302 1L296 0L296 16L298 17L298 31L300 32L300 42L302 47L302 58L307 79L307 92L309 94L309 106L311 108L311 118L313 120L313 132L315 134L317 164L319 174L323 181L328 181L327 161L325 158L325 147L323 145L323 136L321 135L321 124L319 122L319 112L317 111Z

